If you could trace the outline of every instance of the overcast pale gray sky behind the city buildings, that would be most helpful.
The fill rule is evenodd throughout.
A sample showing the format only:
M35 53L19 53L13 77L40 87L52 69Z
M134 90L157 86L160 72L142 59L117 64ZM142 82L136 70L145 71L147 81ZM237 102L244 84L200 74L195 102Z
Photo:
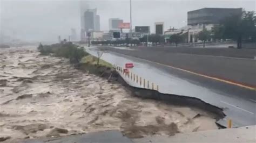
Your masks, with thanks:
M80 33L80 2L72 0L0 0L0 32L27 41L56 41L58 35L67 38L71 28ZM93 0L87 6L98 9L101 30L108 30L109 18L130 21L129 0ZM151 26L164 22L170 26L185 26L187 11L200 8L244 8L255 11L255 1L210 0L132 0L133 26Z

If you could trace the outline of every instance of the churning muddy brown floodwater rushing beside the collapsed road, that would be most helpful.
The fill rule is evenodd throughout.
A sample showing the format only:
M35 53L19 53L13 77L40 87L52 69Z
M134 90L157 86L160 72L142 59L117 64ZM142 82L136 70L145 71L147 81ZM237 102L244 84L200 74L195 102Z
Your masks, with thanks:
M140 138L216 128L207 112L134 97L67 59L32 48L0 50L2 141L104 130Z

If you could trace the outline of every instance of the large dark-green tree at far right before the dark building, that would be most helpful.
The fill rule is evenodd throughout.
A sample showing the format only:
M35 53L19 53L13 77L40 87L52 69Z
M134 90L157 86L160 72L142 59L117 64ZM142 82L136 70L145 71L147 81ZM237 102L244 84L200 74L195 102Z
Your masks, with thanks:
M234 39L237 47L242 48L242 39L255 37L256 17L254 11L242 11L224 19L220 25L213 27L214 38Z

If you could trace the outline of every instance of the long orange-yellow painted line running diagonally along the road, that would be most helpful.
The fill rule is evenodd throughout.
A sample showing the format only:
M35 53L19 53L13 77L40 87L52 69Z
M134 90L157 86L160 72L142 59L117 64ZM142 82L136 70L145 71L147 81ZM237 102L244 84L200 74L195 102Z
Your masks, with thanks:
M116 53L116 52L114 52L114 53ZM120 54L120 53L117 53L117 54ZM125 54L120 54L120 55L125 55ZM125 55L125 56L130 56L130 55ZM139 60L144 60L144 61L151 62L151 63L155 63L155 64L160 65L160 66L165 66L165 67L170 67L170 68L173 68L173 69L178 69L178 70L190 73L190 74L194 74L194 75L210 78L210 79L215 80L215 81L220 81L220 82L225 82L225 83L232 84L232 85L237 85L238 87L242 87L242 88L246 88L246 89L250 89L250 90L256 90L256 87L250 87L250 86L243 85L243 84L240 84L240 83L235 83L235 82L223 80L221 78L217 78L217 77L212 77L212 76L208 76L208 75L203 75L203 74L195 73L194 71L190 71L190 70L186 70L186 69L182 69L182 68L177 68L177 67L173 67L173 66L169 66L169 65L164 65L163 63L153 62L153 61L137 58L137 57L134 57L134 56L130 56L130 57L131 58L135 58L135 59L139 59Z

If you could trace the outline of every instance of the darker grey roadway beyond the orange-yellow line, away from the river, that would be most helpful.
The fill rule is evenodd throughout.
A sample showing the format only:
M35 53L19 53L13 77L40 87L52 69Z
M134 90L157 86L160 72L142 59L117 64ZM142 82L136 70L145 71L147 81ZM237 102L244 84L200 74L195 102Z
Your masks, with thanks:
M224 58L219 56L181 54L165 51L151 50L127 50L110 47L101 47L109 51L130 55L191 71L197 75L206 75L210 78L218 78L219 81L230 82L246 88L256 88L256 60L241 58ZM205 54L209 53L206 51Z

